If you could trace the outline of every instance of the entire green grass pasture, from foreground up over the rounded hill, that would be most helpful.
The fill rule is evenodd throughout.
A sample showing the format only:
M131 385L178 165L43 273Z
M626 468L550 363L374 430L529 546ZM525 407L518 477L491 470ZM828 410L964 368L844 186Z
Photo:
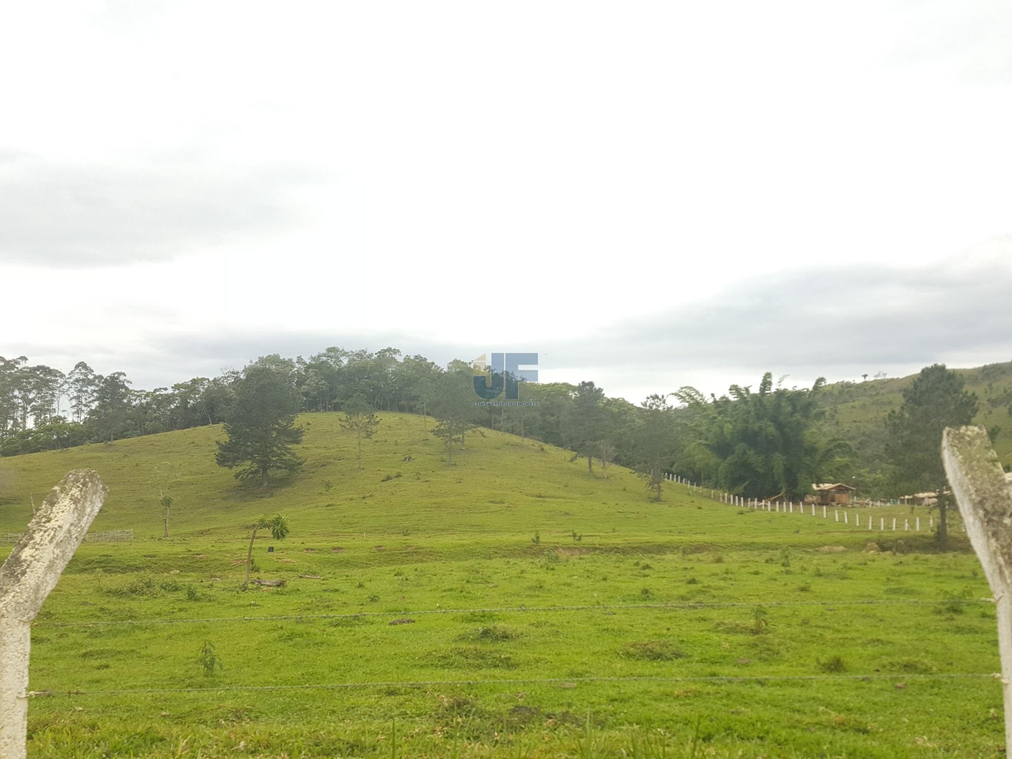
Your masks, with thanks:
M358 471L339 415L303 417L306 468L266 492L215 466L218 428L0 459L0 532L93 468L93 528L138 538L83 544L36 620L29 754L999 755L965 550L680 486L652 503L491 431L448 467L420 417L383 420ZM264 511L292 532L257 539L256 575L287 585L243 592Z

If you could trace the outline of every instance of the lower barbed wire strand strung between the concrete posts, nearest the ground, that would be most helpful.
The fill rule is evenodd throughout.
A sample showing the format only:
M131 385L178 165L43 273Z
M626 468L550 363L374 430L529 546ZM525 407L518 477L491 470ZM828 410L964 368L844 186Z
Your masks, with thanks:
M89 696L89 695L138 695L142 693L219 693L230 690L338 690L348 688L407 688L433 687L448 685L563 685L595 682L808 682L814 680L853 681L862 680L954 680L954 679L1001 679L1000 673L967 672L967 673L936 673L936 674L867 674L867 675L699 675L684 677L659 676L596 676L596 677L517 677L499 680L385 680L372 682L341 682L341 683L305 683L294 685L222 685L205 688L125 688L108 690L31 690L25 694L28 698L49 696Z

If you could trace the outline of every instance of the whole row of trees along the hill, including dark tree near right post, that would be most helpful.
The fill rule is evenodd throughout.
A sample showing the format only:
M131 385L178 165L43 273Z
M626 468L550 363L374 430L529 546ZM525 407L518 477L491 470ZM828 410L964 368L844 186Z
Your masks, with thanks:
M736 385L706 397L682 388L640 405L608 398L592 382L524 384L522 403L489 405L476 403L473 377L465 361L441 367L395 348L331 347L308 359L264 356L242 371L145 391L132 388L121 371L98 374L83 361L65 374L24 356L0 356L0 453L224 422L228 439L219 463L265 483L271 470L294 472L301 465L290 447L301 440L298 413L343 411L360 444L375 428L375 411L401 411L423 415L423 432L443 443L449 463L466 449L471 430L497 429L569 448L590 476L595 466L601 477L612 462L632 468L658 499L668 472L749 498L800 499L814 482L853 479L852 451L820 424L824 380L785 388L767 373L756 390ZM926 368L890 417L882 468L889 484L881 487L940 488L941 429L968 423L977 407L957 373ZM431 429L428 417L435 420Z

